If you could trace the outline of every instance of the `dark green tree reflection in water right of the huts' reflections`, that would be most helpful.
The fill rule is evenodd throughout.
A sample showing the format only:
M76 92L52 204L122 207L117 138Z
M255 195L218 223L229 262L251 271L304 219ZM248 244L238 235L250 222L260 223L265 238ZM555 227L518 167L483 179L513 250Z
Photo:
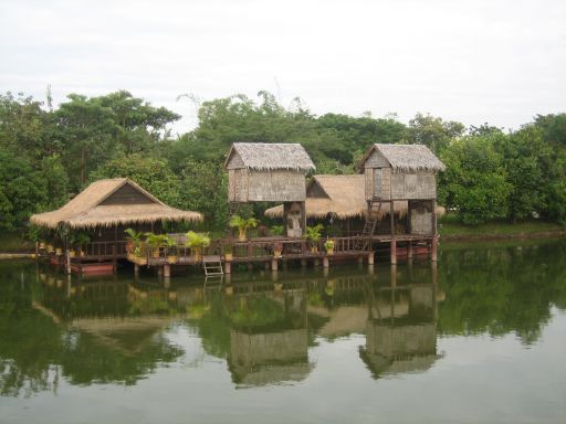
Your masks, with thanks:
M553 305L566 307L566 245L446 248L439 283L447 300L439 307L441 333L503 336L516 332L533 343Z

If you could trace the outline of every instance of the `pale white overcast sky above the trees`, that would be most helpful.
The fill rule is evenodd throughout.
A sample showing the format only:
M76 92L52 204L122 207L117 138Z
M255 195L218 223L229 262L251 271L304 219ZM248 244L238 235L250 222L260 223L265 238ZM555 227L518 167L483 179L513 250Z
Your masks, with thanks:
M511 128L566 112L564 0L0 0L0 53L1 92L123 88L177 131L196 123L184 93Z

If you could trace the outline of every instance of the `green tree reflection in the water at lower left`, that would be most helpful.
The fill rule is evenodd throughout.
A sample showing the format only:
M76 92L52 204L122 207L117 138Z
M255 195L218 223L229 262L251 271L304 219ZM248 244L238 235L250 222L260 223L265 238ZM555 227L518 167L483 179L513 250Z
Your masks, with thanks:
M124 326L108 328L111 321L86 318L80 321L92 328L83 331L55 324L52 317L32 307L34 299L49 299L51 295L29 269L29 265L22 265L17 273L3 274L0 284L2 395L56 391L61 378L73 384L134 384L159 363L171 362L184 353L163 335L163 325L144 328L143 324L130 331ZM25 283L20 283L21 273L25 273ZM62 310L76 312L80 305L86 304L78 300Z

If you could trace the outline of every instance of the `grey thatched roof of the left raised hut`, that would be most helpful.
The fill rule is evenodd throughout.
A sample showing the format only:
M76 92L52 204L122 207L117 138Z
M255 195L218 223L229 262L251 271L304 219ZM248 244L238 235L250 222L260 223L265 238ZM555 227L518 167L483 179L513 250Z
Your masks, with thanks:
M291 142L234 142L224 166L237 155L243 167L254 170L293 169L308 171L315 166L300 144Z

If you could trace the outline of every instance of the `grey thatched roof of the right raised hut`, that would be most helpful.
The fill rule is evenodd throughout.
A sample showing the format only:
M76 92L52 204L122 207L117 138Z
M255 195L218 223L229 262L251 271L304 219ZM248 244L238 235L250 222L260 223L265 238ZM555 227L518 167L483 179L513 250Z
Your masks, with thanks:
M361 160L361 166L377 150L395 171L443 171L442 163L427 146L423 145L379 145L375 144Z

